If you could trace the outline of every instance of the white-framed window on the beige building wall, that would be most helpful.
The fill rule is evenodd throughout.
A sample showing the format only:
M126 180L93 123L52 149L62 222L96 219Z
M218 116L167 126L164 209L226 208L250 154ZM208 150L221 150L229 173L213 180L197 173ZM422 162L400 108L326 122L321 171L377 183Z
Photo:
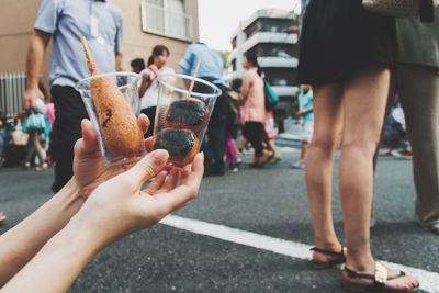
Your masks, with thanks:
M143 0L142 26L145 32L192 40L192 18L184 13L183 0Z

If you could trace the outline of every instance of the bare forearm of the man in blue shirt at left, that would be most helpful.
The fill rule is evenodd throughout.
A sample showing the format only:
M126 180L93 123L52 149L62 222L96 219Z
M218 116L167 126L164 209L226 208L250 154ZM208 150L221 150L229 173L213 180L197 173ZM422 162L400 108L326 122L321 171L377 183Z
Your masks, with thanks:
M26 57L26 88L37 88L40 72L43 65L44 53L49 35L43 32L34 32L31 37Z

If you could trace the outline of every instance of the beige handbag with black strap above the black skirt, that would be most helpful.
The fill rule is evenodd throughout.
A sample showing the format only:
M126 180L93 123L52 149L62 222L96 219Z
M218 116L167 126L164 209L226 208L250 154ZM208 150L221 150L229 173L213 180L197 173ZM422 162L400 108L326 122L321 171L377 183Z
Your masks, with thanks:
M362 5L369 12L394 18L414 18L431 22L434 8L439 7L439 0L362 0Z

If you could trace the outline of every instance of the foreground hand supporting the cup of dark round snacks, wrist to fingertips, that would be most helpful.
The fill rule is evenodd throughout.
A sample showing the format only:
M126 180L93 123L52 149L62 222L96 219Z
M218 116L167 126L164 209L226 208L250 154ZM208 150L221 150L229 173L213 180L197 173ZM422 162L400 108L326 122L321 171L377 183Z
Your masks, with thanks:
M99 248L147 228L193 200L203 178L202 154L184 169L166 170L169 155L155 150L130 170L99 185L70 225L88 230ZM155 177L145 189L143 184ZM94 243L94 244L95 244Z

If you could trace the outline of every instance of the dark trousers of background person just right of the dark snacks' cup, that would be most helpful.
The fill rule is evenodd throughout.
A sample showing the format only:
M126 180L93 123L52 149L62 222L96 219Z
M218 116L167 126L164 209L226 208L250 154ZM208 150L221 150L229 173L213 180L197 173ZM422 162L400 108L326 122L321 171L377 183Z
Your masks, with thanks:
M210 82L212 78L202 77ZM226 170L224 155L226 151L226 126L227 126L227 97L226 90L222 84L217 86L223 92L217 99L213 109L211 120L207 125L205 139L201 149L205 156L206 172L212 174L223 174ZM195 84L194 92L211 93L211 88L204 84Z

